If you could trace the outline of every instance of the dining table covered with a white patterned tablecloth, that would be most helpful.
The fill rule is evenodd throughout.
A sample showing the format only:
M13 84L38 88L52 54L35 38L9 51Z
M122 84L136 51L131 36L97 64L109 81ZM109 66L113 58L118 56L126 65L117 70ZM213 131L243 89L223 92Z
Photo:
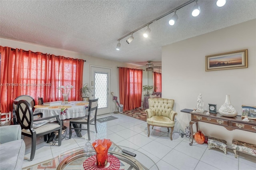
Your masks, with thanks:
M69 101L68 104L61 103L60 105L46 106L46 105L35 105L34 114L42 113L42 118L59 115L61 120L72 119L76 117L85 117L89 102L84 101ZM50 119L50 122L54 122L56 119ZM73 124L74 128L76 124ZM82 137L80 130L75 130L78 137Z

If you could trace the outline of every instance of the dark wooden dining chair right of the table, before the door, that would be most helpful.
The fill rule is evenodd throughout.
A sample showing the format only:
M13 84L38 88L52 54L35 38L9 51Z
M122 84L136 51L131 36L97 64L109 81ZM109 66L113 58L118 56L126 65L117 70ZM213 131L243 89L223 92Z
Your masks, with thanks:
M95 132L97 133L97 110L98 110L98 99L90 99L88 106L88 115L85 117L72 118L69 121L69 138L72 136L72 129L74 130L87 130L88 140L90 139L90 125L95 126ZM94 122L94 124L92 124ZM73 127L72 127L73 125ZM79 125L79 127L78 127ZM87 128L82 128L82 125L87 125Z

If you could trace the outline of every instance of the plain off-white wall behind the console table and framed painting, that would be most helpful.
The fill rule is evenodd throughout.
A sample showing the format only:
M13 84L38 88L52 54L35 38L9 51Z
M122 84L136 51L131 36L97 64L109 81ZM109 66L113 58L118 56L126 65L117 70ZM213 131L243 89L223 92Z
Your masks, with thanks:
M205 56L240 49L248 49L248 68L205 71ZM175 131L186 128L190 114L182 109L194 109L202 93L204 109L208 103L217 109L230 95L231 104L242 113L241 105L256 105L256 20L223 28L208 34L162 47L162 97L175 100L178 113ZM199 123L207 136L256 144L256 133L243 130L228 131L224 127Z

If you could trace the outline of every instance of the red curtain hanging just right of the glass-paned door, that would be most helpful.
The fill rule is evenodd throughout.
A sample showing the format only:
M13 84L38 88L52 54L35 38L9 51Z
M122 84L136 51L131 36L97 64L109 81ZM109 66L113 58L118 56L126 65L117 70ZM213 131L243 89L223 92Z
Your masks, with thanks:
M142 69L119 68L119 96L123 111L141 106Z

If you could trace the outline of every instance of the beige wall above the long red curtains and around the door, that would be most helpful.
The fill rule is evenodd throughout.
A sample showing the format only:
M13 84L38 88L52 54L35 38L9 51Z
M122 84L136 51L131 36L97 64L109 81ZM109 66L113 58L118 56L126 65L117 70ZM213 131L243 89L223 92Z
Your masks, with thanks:
M83 83L89 83L90 81L90 65L97 65L100 67L107 67L111 69L111 88L110 91L114 92L115 96L118 96L119 99L119 76L118 76L118 68L117 67L127 67L126 63L118 62L118 61L111 61L106 59L100 59L98 57L92 57L88 55L84 55L82 53L76 53L73 51L68 51L64 49L57 49L52 47L46 47L41 45L36 45L32 43L24 43L18 42L13 40L8 40L4 38L0 38L0 45L12 47L12 48L19 48L24 50L31 50L31 51L38 51L42 53L50 53L54 55L62 55L64 57L72 57L72 58L79 58L84 59L86 62L84 63L84 73L83 73ZM115 101L112 100L112 96L110 95L111 102L111 111L115 111ZM118 100L119 101L119 100Z

